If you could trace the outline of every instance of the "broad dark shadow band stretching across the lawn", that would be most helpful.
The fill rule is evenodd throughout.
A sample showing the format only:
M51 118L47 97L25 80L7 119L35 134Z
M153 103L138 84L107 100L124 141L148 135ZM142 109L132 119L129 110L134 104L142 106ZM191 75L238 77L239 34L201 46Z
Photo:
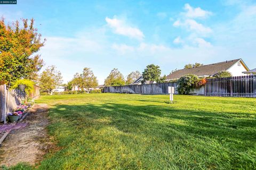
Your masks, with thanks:
M175 109L169 106L133 106L106 103L101 105L56 105L52 108L54 118L79 123L79 127L97 125L115 126L125 133L145 133L166 136L186 134L217 140L241 140L255 142L255 118L242 113L213 113ZM239 117L239 118L237 118ZM99 121L108 119L108 121ZM145 128L146 127L146 128ZM158 132L158 133L157 133ZM177 133L179 132L179 133ZM157 134L156 134L157 133Z

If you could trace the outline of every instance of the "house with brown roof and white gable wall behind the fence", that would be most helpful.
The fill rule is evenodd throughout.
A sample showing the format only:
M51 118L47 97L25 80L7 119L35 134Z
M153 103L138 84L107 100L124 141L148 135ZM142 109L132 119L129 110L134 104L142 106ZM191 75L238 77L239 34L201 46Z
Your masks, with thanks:
M219 71L228 71L233 76L247 75L244 72L249 71L244 61L240 58L237 60L225 61L220 63L202 65L192 69L182 69L174 71L173 73L166 76L166 81L179 79L186 74L195 74L198 77L212 77Z

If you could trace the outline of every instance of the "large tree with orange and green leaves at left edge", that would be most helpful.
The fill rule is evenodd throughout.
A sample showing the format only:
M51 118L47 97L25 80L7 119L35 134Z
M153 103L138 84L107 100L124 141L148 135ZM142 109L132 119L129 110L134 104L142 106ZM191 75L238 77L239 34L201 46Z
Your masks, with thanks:
M34 19L12 25L0 21L0 80L12 86L18 79L35 80L43 60L35 54L44 46L41 35L34 28ZM35 54L33 56L33 54Z

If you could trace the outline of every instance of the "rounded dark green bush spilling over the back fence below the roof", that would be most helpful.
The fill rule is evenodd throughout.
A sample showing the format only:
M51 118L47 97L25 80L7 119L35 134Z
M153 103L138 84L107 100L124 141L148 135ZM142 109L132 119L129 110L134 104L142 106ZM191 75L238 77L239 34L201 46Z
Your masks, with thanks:
M178 92L180 95L189 95L190 91L196 88L196 83L198 82L197 75L194 74L186 74L183 75L178 80Z

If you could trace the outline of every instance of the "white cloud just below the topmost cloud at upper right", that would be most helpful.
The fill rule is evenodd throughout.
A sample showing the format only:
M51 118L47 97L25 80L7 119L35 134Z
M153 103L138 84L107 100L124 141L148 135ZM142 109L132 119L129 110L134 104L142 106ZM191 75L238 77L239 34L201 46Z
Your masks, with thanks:
M195 31L196 33L207 35L212 32L212 29L209 27L205 27L203 24L196 22L192 19L186 19L185 21L177 20L173 23L174 27L185 27L189 31Z

